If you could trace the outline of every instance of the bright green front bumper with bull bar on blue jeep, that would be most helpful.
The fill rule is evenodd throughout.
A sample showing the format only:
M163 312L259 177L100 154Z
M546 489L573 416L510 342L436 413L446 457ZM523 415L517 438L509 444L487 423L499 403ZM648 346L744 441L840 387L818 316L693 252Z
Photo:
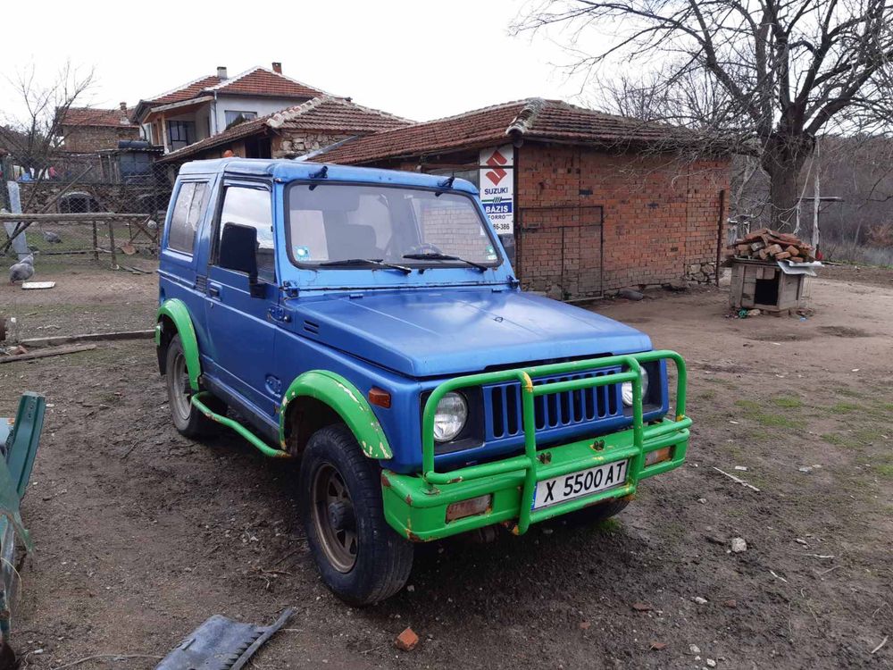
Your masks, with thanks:
M675 420L663 419L661 422L644 425L639 363L662 358L672 360L677 368L676 417ZM531 378L537 376L572 374L586 369L618 365L622 365L626 369L625 372L536 386L531 381ZM524 454L450 472L436 472L433 415L439 399L454 389L512 379L522 382ZM533 398L623 381L630 381L633 387L630 429L603 435L597 439L590 438L558 447L538 449ZM505 523L514 533L521 534L527 532L530 523L567 514L608 498L631 496L636 492L638 482L679 467L685 460L691 425L691 419L685 415L686 381L685 363L672 351L611 356L524 370L483 373L446 381L431 393L424 409L423 473L399 474L388 470L382 473L381 490L385 518L396 532L413 541L438 540L494 523ZM669 460L645 465L647 454L662 448L671 448ZM537 482L626 459L629 459L629 465L626 481L622 485L565 500L550 507L532 509ZM451 504L484 495L491 495L492 502L483 514L447 521L447 507Z

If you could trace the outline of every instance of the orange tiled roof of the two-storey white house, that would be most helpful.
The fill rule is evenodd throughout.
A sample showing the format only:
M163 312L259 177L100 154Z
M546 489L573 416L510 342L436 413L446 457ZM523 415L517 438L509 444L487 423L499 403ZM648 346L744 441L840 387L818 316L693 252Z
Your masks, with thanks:
M233 96L313 97L322 95L322 91L286 77L284 74L262 67L254 67L225 80L221 80L216 75L201 77L144 102L152 106L170 105L201 96L205 91L217 91Z

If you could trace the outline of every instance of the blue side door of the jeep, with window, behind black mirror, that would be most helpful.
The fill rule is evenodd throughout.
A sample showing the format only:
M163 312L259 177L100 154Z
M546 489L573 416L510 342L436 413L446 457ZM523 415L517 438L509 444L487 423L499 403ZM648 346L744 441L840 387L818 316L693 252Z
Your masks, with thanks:
M236 223L257 230L257 285L246 272L223 267L223 226ZM260 182L224 184L208 270L206 320L211 340L213 376L247 398L263 415L273 416L280 389L272 370L276 325L271 308L278 306L269 185ZM254 294L254 295L253 295Z

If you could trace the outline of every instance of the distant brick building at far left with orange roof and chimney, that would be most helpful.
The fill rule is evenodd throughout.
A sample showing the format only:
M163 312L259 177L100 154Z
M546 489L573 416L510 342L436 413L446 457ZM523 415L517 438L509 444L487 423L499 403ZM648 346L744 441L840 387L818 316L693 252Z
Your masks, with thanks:
M130 121L133 110L121 103L119 109L69 107L59 110L59 130L63 135L62 150L88 154L118 148L121 139L138 139L139 126Z

